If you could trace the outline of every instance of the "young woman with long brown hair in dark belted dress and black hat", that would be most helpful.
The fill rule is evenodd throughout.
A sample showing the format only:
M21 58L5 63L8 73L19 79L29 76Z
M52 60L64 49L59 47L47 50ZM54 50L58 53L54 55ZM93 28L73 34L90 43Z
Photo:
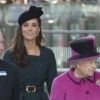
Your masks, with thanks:
M31 6L18 18L18 30L13 46L4 60L17 66L20 74L20 100L48 100L48 93L57 75L56 60L51 49L42 45L41 7Z

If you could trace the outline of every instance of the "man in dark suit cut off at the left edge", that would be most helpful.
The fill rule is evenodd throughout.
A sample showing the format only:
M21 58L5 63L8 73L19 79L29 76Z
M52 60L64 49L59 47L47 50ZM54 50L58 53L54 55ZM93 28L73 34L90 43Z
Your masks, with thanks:
M4 37L0 31L0 58L4 51ZM0 100L19 100L17 68L0 59Z

